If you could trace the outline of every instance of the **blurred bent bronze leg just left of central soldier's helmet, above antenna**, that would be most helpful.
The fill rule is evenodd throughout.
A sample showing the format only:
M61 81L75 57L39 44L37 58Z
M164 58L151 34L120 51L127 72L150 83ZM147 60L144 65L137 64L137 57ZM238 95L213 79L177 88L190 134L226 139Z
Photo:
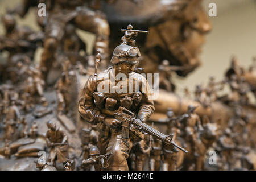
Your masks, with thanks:
M78 15L74 19L76 27L96 34L94 51L100 50L102 59L108 57L109 47L109 24L104 14L93 11L88 7L78 7Z

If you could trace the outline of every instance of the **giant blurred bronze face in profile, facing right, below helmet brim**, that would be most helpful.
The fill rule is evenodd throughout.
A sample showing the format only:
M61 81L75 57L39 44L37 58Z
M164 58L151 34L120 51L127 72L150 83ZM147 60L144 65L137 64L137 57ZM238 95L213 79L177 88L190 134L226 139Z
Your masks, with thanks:
M163 52L170 52L169 55L163 53L163 58L172 60L175 65L184 65L187 69L177 73L187 75L201 64L199 54L205 42L205 34L211 29L201 0L190 0L184 10L158 26L158 34L163 38L161 49ZM148 36L150 37L150 34ZM152 38L148 38L148 43L154 39L152 35Z

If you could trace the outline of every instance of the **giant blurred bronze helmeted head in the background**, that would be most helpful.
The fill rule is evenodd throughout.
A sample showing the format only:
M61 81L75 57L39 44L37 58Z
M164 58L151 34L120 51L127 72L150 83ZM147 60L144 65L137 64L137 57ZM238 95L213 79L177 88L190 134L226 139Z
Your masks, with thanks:
M212 26L208 14L201 5L202 0L140 0L132 3L119 0L114 5L102 5L110 24L111 49L119 44L121 36L118 28L133 22L134 27L150 31L136 40L141 49L143 61L139 67L145 73L155 73L164 59L171 65L185 66L176 71L186 76L200 65L200 49L204 36ZM120 8L122 7L122 8Z

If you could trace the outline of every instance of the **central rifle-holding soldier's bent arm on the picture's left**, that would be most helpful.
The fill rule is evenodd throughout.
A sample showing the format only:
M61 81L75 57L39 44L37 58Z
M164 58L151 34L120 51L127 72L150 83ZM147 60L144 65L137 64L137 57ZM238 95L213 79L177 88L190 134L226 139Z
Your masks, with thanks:
M103 123L106 117L95 106L92 94L97 90L97 77L91 76L86 82L79 100L79 113L85 121L93 124Z

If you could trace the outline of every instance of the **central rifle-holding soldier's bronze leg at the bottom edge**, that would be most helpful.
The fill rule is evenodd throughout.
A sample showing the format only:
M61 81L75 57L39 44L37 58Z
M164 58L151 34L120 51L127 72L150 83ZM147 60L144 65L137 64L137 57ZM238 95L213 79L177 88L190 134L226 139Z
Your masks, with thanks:
M128 171L127 158L129 157L129 151L132 147L132 142L125 143L122 141L121 132L112 131L112 135L106 148L107 154L112 153L108 159L110 171Z

